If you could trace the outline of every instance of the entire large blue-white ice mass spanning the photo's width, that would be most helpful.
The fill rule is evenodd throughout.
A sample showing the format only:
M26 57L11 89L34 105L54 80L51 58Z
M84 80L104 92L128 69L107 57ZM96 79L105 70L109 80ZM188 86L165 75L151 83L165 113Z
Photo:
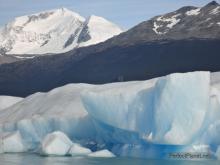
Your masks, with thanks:
M169 158L176 152L207 152L218 159L219 103L220 73L69 84L3 108L0 137L16 132L23 151L39 154L48 136L59 131L62 136L55 136L55 142L69 139L71 144L59 154L61 149L54 143L56 155L89 156L108 150L115 156Z

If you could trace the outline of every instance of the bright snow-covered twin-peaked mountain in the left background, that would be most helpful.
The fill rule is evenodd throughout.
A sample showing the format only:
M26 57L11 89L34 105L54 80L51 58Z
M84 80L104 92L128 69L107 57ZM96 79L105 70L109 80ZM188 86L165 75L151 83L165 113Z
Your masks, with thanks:
M26 54L26 57L63 53L105 41L121 32L117 25L104 18L91 16L85 19L61 8L17 17L0 28L0 52Z

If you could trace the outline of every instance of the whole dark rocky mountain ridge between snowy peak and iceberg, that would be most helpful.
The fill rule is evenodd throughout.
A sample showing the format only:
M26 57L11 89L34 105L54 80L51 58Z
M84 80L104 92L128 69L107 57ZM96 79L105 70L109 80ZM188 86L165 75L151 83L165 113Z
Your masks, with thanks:
M184 7L106 42L0 66L0 94L27 96L68 83L143 80L220 71L220 7Z

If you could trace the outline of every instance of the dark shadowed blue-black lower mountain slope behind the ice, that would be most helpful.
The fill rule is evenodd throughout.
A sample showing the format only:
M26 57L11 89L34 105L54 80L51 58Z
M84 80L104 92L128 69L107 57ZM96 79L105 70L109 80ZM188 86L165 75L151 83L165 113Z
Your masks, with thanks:
M28 96L68 83L100 84L146 80L174 72L220 71L219 45L220 40L148 42L91 54L79 51L3 64L0 94Z

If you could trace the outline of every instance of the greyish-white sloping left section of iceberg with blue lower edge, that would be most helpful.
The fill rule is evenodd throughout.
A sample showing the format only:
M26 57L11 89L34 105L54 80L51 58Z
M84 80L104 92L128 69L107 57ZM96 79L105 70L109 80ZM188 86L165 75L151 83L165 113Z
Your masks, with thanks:
M95 130L80 98L90 88L92 85L70 84L30 95L0 111L0 132L19 131L28 150L38 148L55 131L70 138L92 139Z

